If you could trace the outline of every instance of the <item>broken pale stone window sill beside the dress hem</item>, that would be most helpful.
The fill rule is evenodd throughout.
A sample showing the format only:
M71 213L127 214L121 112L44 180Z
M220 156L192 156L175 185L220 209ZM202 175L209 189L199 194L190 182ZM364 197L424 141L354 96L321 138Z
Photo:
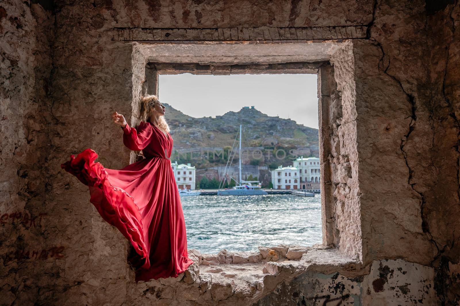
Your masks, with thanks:
M259 252L224 249L218 254L201 254L191 249L189 257L195 263L177 278L160 278L145 284L192 290L196 295L193 300L224 300L231 296L255 301L304 271L352 274L359 266L357 260L343 256L338 249L320 244L259 247Z

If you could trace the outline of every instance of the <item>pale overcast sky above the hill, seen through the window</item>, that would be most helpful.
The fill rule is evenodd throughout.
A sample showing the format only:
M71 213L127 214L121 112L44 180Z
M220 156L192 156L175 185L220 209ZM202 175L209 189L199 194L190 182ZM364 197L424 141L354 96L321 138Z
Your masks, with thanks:
M159 98L191 117L216 117L243 106L318 128L315 74L161 75Z

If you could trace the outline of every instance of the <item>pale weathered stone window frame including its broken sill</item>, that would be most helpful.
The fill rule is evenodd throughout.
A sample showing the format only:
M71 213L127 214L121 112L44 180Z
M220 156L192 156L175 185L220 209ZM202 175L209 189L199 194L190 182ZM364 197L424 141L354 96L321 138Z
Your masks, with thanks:
M359 198L354 186L337 180L344 169L355 165L356 145L353 117L352 59L348 41L295 43L133 43L132 69L132 123L138 120L138 101L143 94L159 93L160 74L261 74L261 73L315 73L318 75L318 114L322 211L322 244L309 247L298 245L260 246L257 252L237 252L227 249L217 254L201 254L189 250L196 262L182 277L160 280L170 284L183 279L197 284L200 292L209 286L222 299L236 293L236 283L244 282L248 295L263 295L283 280L290 280L311 265L339 268L362 261L359 243L360 223L356 228L345 226L343 209ZM339 74L337 74L339 72ZM350 90L351 89L351 90ZM342 110L346 99L345 110ZM161 97L160 97L161 99ZM345 113L346 116L343 115ZM344 119L344 117L346 117ZM346 128L343 128L343 125ZM347 138L348 136L348 138ZM342 151L343 150L343 151ZM132 160L135 156L132 156ZM352 165L351 165L352 164ZM345 170L351 178L352 171ZM287 173L285 172L285 176ZM312 181L313 181L312 177ZM357 179L357 178L355 178ZM286 186L290 189L290 185ZM352 189L352 192L345 190ZM341 210L339 209L341 207ZM359 214L359 211L356 212ZM349 218L350 216L347 216ZM327 271L325 268L324 271ZM209 275L212 275L212 280ZM230 282L230 283L229 283ZM246 290L246 289L245 289Z

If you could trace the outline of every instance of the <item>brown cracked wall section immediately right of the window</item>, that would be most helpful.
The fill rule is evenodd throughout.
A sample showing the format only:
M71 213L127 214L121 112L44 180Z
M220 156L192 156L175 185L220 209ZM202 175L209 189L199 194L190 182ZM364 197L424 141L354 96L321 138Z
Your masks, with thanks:
M377 1L373 16L370 39L353 46L356 78L362 79L357 96L364 97L357 100L358 120L367 123L358 130L363 252L368 261L401 257L430 264L436 247L422 228L419 193L435 184L428 178L434 178L436 150L427 136L424 2ZM419 175L423 179L416 181Z

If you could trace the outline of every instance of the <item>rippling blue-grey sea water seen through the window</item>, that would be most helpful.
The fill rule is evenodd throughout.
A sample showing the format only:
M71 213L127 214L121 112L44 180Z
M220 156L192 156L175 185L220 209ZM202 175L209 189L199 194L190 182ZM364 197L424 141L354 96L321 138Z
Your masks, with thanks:
M258 246L322 242L321 198L297 195L181 198L189 249L257 251Z

